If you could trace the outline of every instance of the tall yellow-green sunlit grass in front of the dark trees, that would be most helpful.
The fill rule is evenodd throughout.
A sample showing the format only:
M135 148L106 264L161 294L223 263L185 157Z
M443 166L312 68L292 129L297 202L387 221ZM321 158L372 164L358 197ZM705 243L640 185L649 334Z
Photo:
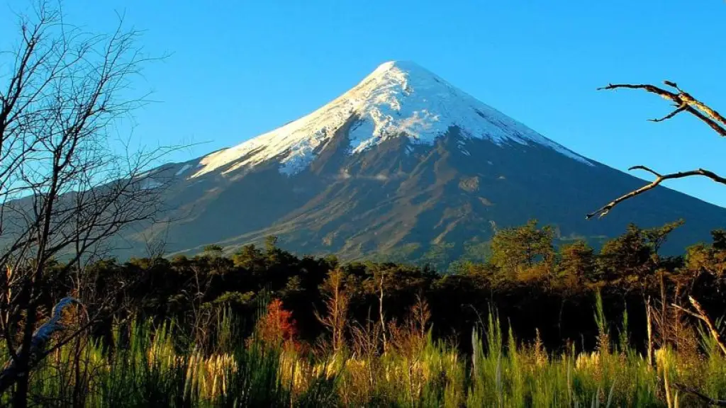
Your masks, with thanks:
M213 336L213 352L180 346L173 325L150 322L134 324L126 344L114 349L83 339L69 343L33 372L33 402L44 407L678 407L696 401L677 393L675 383L696 385L714 397L723 398L726 391L726 359L707 333L701 358L661 348L651 367L628 344L627 317L611 344L599 299L600 346L591 353L572 347L554 353L539 340L519 343L494 311L473 330L469 355L433 340L431 332L386 353L303 353L236 338L236 325L224 319Z

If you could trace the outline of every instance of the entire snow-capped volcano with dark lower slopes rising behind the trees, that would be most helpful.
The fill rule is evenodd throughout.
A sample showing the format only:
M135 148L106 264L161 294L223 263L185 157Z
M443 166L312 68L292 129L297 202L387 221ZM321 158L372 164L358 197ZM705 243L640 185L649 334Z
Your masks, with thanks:
M171 252L267 235L302 253L445 264L481 256L497 229L539 219L595 245L630 222L685 219L672 248L724 227L726 210L658 187L607 219L584 214L643 180L568 150L413 62L386 62L313 113L237 146L170 163L168 223L131 235Z

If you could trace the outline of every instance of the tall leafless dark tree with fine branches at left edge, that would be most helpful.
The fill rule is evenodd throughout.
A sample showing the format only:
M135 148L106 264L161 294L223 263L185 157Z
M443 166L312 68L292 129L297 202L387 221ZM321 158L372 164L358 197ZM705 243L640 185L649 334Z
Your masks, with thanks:
M15 384L15 407L26 406L28 374L46 355L33 346L46 266L62 258L54 279L63 279L122 229L152 221L167 182L148 171L162 150L119 154L109 142L115 121L144 103L128 97L149 61L138 33L120 22L94 35L62 17L38 2L20 16L15 48L0 54L0 331L13 368L0 374L0 392Z

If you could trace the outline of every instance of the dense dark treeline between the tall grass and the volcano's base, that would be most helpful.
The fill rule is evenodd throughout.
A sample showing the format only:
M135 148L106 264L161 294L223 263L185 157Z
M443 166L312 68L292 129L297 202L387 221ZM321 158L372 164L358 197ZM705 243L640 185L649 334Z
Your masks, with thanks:
M250 322L251 332L258 306L278 299L292 314L295 338L314 345L351 335L343 328L336 334L334 325L378 325L383 318L383 327L389 327L407 321L412 308L423 301L434 338L454 340L464 351L472 327L490 309L506 317L521 340L534 340L539 332L547 348L572 343L592 350L597 338L594 298L600 292L608 316L622 316L627 308L629 336L642 351L649 299L662 311L661 320L683 319L670 316L672 308L664 305L688 304L688 295L695 295L714 317L726 306L726 233L715 231L712 242L688 248L682 256L661 256L659 248L678 225L630 226L596 251L582 241L555 248L552 229L532 221L498 232L488 261L461 263L456 272L445 275L425 266L299 257L278 248L277 240L269 237L264 248L245 245L231 256L211 245L193 257L100 261L86 268L85 286L70 278L59 281L49 273L46 305L52 307L64 292L78 296L91 314L105 316L94 332L107 339L119 323L151 318L173 319L187 340L209 343L223 311L232 310ZM326 320L333 296L344 302L341 322Z

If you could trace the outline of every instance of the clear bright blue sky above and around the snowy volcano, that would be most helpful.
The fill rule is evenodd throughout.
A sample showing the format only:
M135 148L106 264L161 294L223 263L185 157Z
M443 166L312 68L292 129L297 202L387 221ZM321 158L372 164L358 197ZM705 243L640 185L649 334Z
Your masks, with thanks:
M0 0L0 43L25 0ZM726 174L726 140L669 105L608 82L664 79L726 110L726 4L611 1L70 0L67 20L110 30L115 11L171 54L136 81L159 101L136 112L149 144L208 142L188 160L287 123L381 62L413 60L576 152L621 170L704 167ZM122 129L125 131L125 129ZM726 206L709 180L668 184Z

